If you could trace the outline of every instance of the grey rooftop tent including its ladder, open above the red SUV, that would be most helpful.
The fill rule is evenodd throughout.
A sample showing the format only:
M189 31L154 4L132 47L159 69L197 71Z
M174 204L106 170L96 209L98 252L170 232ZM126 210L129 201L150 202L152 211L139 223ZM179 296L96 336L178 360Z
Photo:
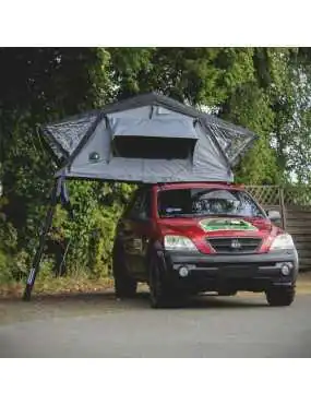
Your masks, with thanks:
M24 299L39 269L64 179L135 183L234 180L232 168L256 135L175 99L144 94L44 127L59 165Z

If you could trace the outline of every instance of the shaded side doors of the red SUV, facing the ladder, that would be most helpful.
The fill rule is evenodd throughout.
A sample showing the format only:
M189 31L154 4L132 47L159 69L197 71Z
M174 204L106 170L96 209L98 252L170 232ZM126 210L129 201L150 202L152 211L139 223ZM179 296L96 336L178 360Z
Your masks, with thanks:
M139 190L119 224L119 237L122 239L129 271L141 281L146 278L145 255L152 231L151 212L151 190Z

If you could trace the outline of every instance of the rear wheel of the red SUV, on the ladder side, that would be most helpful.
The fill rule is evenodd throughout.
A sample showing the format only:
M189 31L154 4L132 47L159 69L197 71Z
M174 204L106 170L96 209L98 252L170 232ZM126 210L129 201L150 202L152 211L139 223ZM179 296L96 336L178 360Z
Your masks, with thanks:
M129 275L124 252L118 242L116 242L112 252L112 274L115 278L116 297L133 298L136 294L137 282Z

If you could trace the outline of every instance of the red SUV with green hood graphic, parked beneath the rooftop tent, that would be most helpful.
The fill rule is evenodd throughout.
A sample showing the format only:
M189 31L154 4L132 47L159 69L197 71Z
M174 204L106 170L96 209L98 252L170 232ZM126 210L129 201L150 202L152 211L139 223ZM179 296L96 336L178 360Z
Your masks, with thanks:
M224 183L144 186L120 218L113 245L117 297L147 283L153 308L190 294L264 291L271 306L295 298L298 254L242 188Z

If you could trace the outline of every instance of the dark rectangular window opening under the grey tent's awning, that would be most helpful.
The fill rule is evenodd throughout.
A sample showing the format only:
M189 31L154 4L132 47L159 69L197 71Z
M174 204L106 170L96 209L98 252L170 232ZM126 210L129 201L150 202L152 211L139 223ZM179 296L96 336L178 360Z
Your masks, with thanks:
M187 159L192 157L196 140L153 136L116 136L115 157L143 159Z

